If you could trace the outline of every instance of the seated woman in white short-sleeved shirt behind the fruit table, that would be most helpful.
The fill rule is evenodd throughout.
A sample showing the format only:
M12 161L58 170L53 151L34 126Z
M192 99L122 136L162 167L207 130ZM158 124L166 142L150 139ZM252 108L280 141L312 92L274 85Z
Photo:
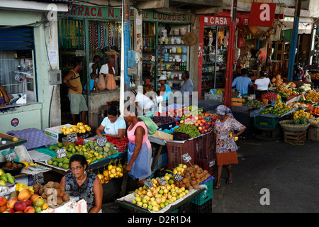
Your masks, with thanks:
M103 119L99 128L96 128L96 135L99 137L111 136L118 139L123 138L125 135L126 123L119 115L120 111L116 109L116 107L111 106L107 110L107 117Z

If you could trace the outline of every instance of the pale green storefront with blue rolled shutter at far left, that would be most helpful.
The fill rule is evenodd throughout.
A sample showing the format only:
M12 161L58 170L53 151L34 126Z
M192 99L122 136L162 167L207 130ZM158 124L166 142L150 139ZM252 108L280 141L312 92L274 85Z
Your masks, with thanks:
M51 117L58 118L58 112L51 111L56 109L56 99L50 83L57 62L52 58L49 62L47 54L51 51L52 57L57 56L55 22L42 21L47 4L34 6L32 12L19 13L3 7L0 15L0 84L11 100L10 104L0 107L1 132L47 128L52 123ZM50 38L46 36L49 33Z

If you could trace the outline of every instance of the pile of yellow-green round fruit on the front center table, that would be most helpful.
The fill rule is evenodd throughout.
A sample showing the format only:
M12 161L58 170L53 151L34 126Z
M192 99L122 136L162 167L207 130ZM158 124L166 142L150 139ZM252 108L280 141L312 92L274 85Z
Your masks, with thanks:
M133 204L157 212L189 193L189 190L174 184L173 175L165 175L164 179L167 181L165 185L159 184L157 179L152 178L153 187L146 189L144 186L136 189Z

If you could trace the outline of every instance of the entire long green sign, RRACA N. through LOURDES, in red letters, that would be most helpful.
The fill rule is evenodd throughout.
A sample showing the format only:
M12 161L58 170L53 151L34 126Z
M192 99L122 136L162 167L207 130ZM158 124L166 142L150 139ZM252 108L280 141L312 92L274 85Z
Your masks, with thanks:
M67 12L57 13L60 17L74 17L74 18L96 18L121 21L122 9L120 8L106 8L94 6L72 6ZM133 19L134 10L130 10L130 18ZM164 22L164 23L190 23L191 15L187 14L167 14L158 12L142 12L143 21Z

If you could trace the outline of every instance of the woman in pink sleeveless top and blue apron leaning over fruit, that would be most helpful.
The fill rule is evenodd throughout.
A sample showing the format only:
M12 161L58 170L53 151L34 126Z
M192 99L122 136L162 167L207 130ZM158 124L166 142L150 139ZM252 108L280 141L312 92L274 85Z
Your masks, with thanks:
M124 111L124 119L128 122L128 165L125 170L128 175L137 181L138 187L143 186L143 180L151 172L152 145L148 140L147 128L130 106Z

